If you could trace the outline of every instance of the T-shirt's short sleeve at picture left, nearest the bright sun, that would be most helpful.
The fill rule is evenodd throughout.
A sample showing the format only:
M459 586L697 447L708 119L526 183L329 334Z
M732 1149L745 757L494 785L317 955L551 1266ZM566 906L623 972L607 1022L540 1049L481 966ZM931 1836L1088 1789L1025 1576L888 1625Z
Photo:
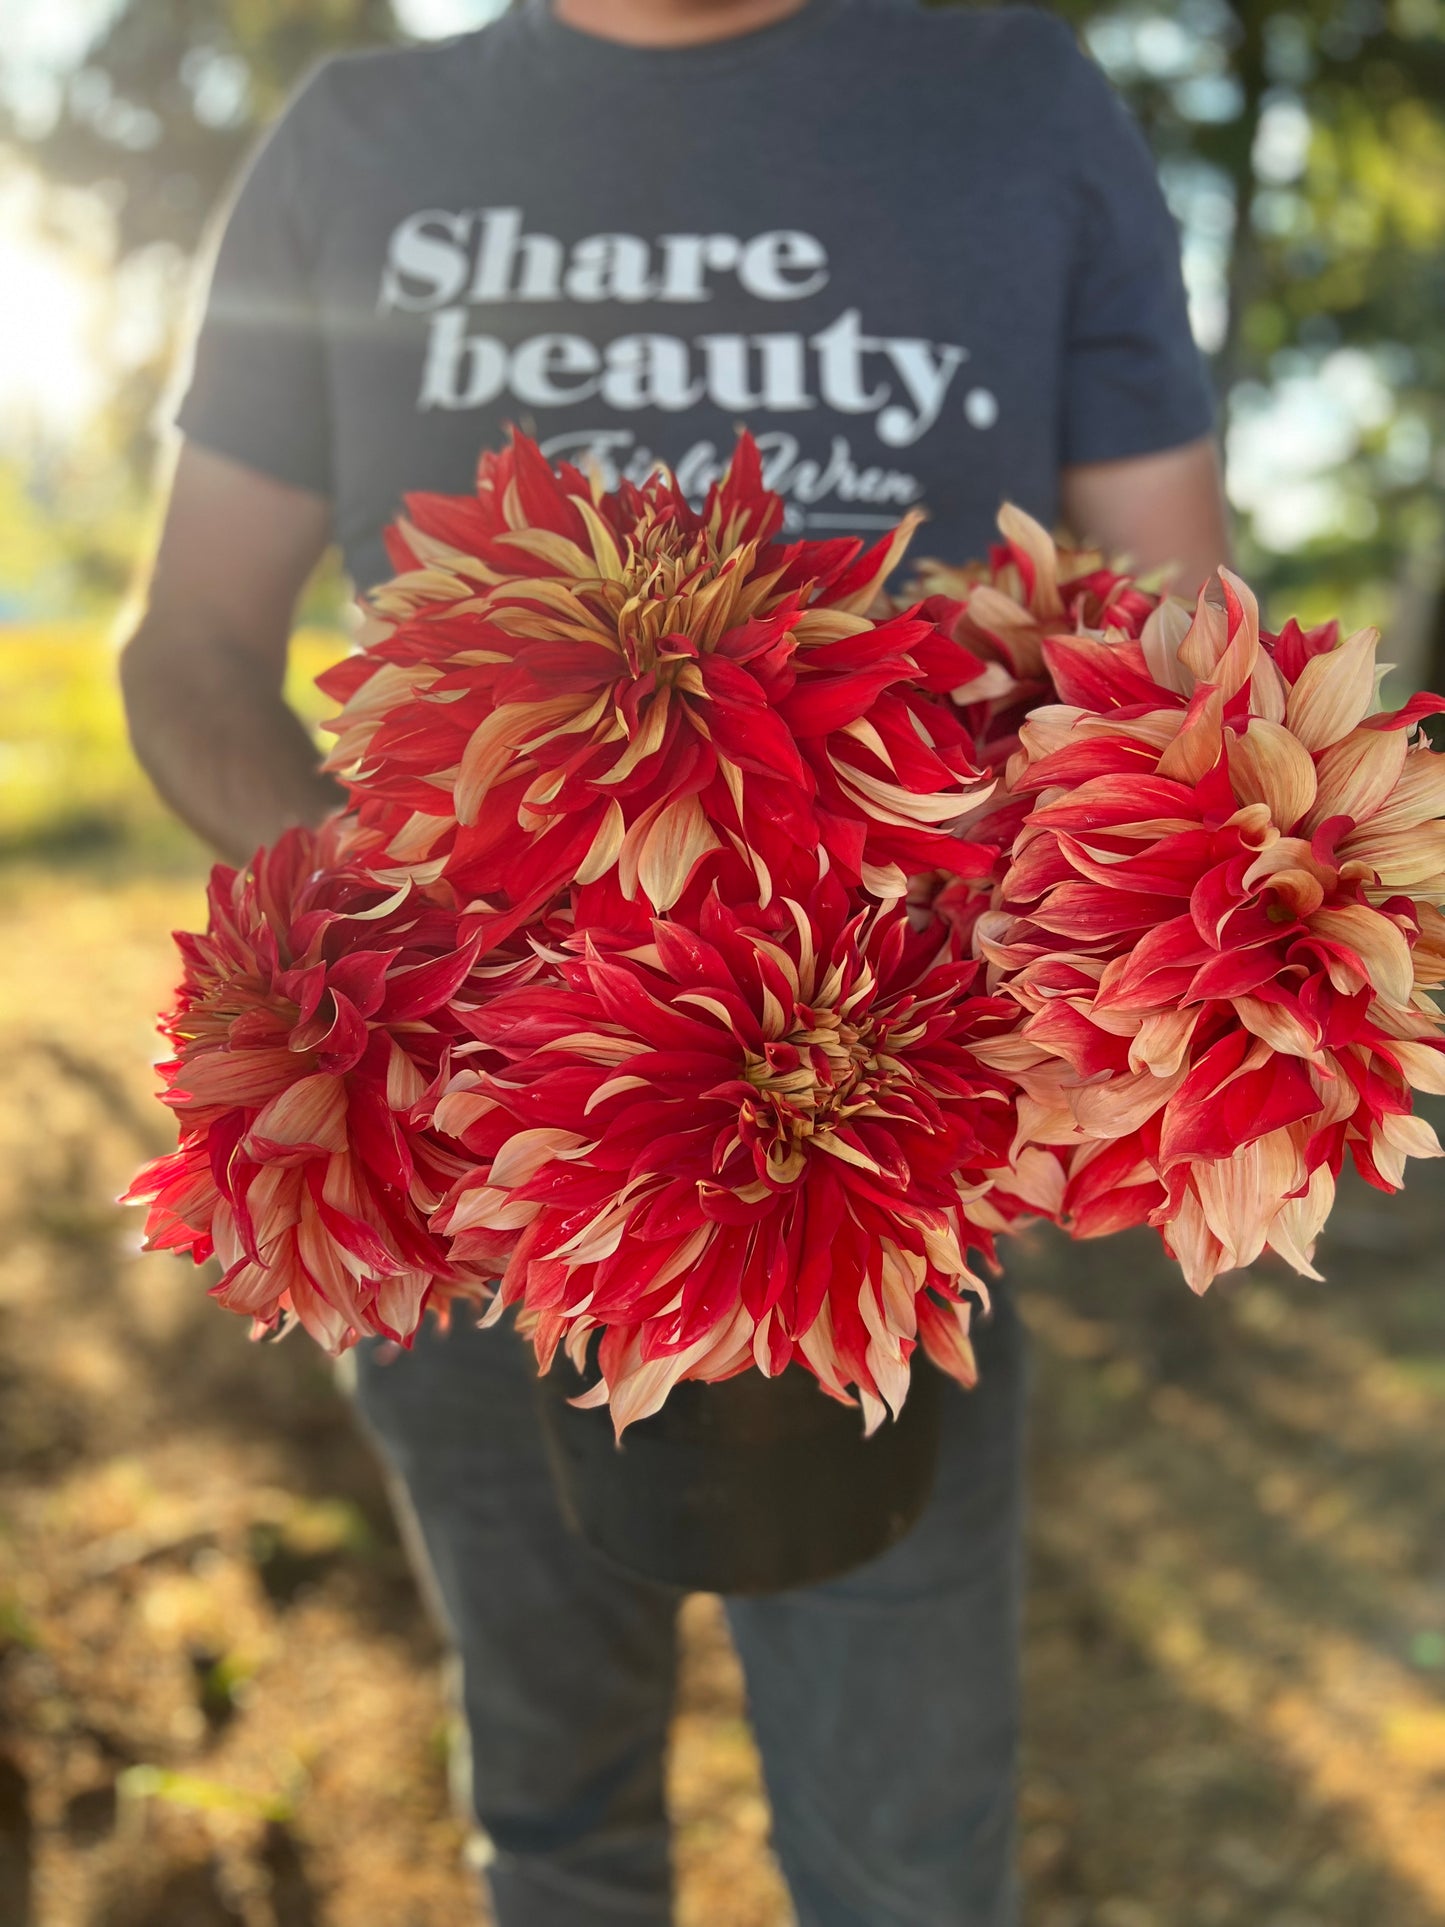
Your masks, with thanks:
M310 92L272 127L222 210L175 426L277 482L329 495L326 341L297 139Z

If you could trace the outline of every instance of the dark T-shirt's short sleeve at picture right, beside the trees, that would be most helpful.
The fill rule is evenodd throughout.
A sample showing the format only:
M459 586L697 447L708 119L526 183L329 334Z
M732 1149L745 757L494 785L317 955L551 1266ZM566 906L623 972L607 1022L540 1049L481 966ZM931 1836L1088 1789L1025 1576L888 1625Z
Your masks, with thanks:
M1077 183L1060 462L1108 462L1196 441L1214 393L1189 330L1179 229L1154 158L1104 73L1069 35Z

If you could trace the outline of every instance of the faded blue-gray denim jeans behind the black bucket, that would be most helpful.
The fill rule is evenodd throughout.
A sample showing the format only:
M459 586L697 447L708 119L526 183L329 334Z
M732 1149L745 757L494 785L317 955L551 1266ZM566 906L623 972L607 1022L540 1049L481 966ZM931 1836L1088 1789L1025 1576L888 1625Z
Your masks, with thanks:
M726 1601L800 1927L1013 1927L1023 1335L944 1387L938 1484L879 1559ZM532 1362L462 1316L362 1347L356 1403L460 1659L499 1927L667 1927L678 1594L568 1534Z

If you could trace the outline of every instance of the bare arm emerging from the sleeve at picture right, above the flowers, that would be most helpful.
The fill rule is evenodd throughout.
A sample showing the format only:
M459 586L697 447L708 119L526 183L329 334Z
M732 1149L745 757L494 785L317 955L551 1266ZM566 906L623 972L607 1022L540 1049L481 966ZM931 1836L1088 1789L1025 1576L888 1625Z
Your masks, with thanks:
M1191 601L1229 563L1229 511L1214 436L1158 455L1077 462L1060 480L1064 526Z

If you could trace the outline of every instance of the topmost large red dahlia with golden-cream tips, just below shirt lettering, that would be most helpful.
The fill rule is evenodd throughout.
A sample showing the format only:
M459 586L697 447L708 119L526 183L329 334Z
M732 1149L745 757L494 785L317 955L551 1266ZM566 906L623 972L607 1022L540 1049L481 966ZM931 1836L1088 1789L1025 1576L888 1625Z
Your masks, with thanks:
M755 445L696 513L676 482L603 493L518 436L474 497L412 495L399 574L341 703L331 769L397 875L447 877L497 942L615 879L667 911L709 856L767 902L817 873L900 894L988 867L952 821L986 788L948 692L981 663L871 615L911 524L778 543Z

